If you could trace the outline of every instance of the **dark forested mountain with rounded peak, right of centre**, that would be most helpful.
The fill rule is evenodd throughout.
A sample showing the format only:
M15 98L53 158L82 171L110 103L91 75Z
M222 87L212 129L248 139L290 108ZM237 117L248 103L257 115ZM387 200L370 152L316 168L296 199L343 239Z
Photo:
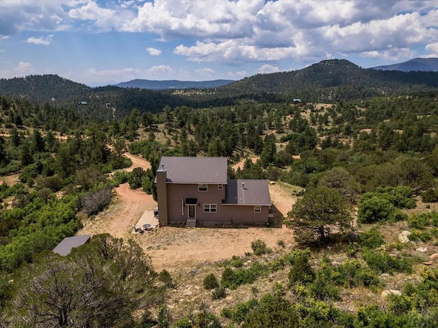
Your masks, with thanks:
M270 98L300 98L333 102L438 89L438 72L400 72L365 69L346 59L320 61L302 70L257 74L224 87L220 92L268 94Z

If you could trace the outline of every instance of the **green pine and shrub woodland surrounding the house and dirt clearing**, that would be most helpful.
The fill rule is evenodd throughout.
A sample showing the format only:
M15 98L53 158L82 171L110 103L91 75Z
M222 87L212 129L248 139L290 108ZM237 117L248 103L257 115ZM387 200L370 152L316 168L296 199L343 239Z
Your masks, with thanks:
M357 93L368 70L323 63L300 74L346 65L358 76L334 75L358 89L324 81L324 71L312 75L320 84L302 94L318 100L310 96L315 90L335 87L337 95L355 96L294 103L266 90L257 100L247 93L221 103L216 91L175 98L128 89L123 98L114 87L84 85L66 93L70 105L0 96L0 181L18 174L18 182L0 185L0 327L435 327L437 264L416 249L438 246L437 79L422 75L422 87L416 73L388 72L396 95L382 96L377 82ZM369 74L382 79L381 73ZM83 98L88 92L105 105L93 107L92 97ZM202 97L209 105L201 105ZM126 113L104 113L116 101L125 102ZM131 164L126 150L148 159L151 169L124 171ZM220 275L205 275L202 288L212 303L222 302L220 313L203 304L174 315L166 300L178 277L156 272L134 241L102 234L66 257L51 252L81 228L81 218L105 211L118 184L154 195L163 155L227 156L231 177L299 187L300 198L283 217L297 247L278 241L281 253L273 253L259 240L252 254L211 264ZM242 159L242 169L231 168ZM418 204L426 210L415 211ZM386 241L385 231L400 226L411 232L409 243ZM342 260L334 263L334 254ZM270 279L276 273L283 279ZM385 300L361 298L380 295L388 276L406 283ZM261 293L257 281L269 292ZM250 298L227 301L231 290L250 284Z

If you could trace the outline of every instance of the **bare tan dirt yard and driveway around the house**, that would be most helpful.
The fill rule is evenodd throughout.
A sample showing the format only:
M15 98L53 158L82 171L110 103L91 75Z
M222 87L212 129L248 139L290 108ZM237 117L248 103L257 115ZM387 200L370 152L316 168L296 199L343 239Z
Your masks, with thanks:
M149 162L138 156L127 154L133 167L150 167ZM132 169L132 167L131 167ZM282 215L292 208L296 197L280 184L270 185L272 204ZM110 207L92 219L83 219L83 228L78 234L110 233L112 236L134 238L153 261L156 270L178 271L195 267L199 263L216 262L231 256L244 256L250 252L251 242L262 239L274 248L282 240L286 245L294 243L293 232L283 228L174 228L162 227L154 232L132 234L132 226L140 219L144 210L157 206L151 195L129 189L121 184L115 189L116 197Z

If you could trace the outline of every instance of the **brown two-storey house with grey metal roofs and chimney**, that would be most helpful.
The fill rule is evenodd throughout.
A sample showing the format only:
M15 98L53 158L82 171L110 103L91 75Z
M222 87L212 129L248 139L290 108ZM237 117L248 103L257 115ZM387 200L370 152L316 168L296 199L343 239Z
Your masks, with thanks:
M226 157L163 156L156 182L160 226L268 223L268 180L228 179Z

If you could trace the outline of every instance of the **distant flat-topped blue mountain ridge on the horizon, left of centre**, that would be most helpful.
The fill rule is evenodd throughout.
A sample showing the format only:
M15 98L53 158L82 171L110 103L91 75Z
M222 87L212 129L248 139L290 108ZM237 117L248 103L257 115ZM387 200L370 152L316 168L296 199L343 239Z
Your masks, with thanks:
M233 80L214 80L214 81L154 81L136 79L127 82L118 83L116 87L138 87L139 89L150 90L177 90L177 89L210 89L214 87L222 87L233 83Z

